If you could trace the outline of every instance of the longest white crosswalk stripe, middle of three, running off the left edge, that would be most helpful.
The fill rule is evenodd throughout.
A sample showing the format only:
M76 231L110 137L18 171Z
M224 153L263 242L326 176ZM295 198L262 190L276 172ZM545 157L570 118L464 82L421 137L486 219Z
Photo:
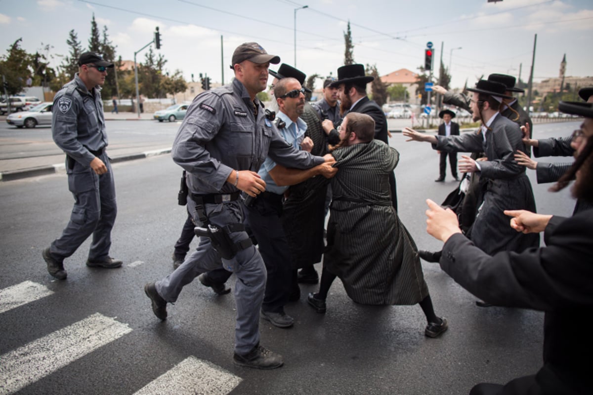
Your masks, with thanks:
M15 393L129 332L127 324L95 313L0 355L0 395Z

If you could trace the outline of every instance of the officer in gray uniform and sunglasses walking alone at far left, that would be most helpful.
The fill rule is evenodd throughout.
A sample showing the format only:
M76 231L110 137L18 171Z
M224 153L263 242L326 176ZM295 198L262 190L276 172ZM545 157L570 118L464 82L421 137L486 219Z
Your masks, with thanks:
M122 261L109 256L111 229L117 214L113 172L107 158L107 133L101 85L107 62L98 53L85 52L78 59L78 73L53 101L53 141L66 153L68 189L74 195L70 221L62 236L42 255L53 277L67 277L63 260L93 235L87 266L119 268Z

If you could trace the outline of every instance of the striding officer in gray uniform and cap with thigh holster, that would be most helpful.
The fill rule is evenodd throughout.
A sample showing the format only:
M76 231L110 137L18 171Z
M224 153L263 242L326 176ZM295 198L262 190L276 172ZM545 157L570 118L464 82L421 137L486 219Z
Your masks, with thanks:
M233 272L237 276L233 359L237 365L258 369L278 368L283 360L259 344L266 267L245 232L240 193L256 197L266 190L257 171L267 156L289 168L324 162L286 143L256 98L266 89L269 64L279 62L257 43L241 44L232 56L232 83L197 95L187 110L171 154L187 171L188 210L211 237L200 237L196 251L181 266L144 288L155 316L164 320L167 302L175 302L183 286L200 273L221 267Z

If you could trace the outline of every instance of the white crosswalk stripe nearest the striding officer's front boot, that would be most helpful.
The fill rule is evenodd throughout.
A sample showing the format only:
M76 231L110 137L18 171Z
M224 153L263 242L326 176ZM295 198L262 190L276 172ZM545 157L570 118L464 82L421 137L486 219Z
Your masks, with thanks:
M243 381L241 377L235 376L218 365L196 357L187 357L134 395L226 395L241 381Z

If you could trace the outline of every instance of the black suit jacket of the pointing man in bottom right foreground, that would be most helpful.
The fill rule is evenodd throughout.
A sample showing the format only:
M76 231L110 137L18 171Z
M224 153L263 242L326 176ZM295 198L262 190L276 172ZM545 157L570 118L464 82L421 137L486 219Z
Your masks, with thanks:
M455 234L442 250L441 268L466 290L497 306L546 312L544 365L530 394L585 394L593 386L593 210L552 217L546 247L486 255ZM533 385L533 384L532 384ZM589 389L586 389L589 388Z

